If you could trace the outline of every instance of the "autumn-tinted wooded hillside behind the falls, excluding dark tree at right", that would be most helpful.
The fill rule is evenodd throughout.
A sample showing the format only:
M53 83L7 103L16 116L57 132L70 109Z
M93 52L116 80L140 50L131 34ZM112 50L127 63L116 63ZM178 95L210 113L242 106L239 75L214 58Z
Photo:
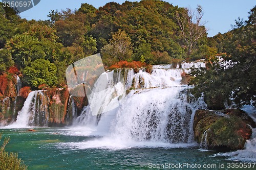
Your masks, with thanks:
M84 3L74 11L51 10L45 21L21 19L2 5L0 15L0 73L15 65L24 75L24 85L33 88L65 85L67 66L95 53L111 66L119 61L193 60L208 51L206 29L199 22L191 20L184 27L197 28L201 36L193 45L184 39L189 29L181 30L179 19L193 18L191 11L158 0L112 2L99 9ZM202 45L207 47L202 50Z

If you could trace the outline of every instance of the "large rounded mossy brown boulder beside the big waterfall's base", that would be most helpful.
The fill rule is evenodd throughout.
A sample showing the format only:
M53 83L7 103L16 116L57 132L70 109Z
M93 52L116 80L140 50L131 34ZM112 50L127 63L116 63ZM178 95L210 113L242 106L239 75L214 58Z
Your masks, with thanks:
M234 151L244 149L251 136L253 120L240 109L197 110L194 117L195 140L204 149Z

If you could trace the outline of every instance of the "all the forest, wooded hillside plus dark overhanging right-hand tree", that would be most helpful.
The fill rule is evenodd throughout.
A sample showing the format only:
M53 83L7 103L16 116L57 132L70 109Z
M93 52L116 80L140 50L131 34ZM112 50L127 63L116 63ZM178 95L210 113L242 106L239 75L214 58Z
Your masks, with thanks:
M23 75L24 86L65 87L67 66L96 53L106 69L118 62L135 67L205 59L205 69L191 71L196 95L256 105L256 7L248 20L235 20L231 31L207 37L201 6L193 10L144 0L96 9L84 3L78 10L51 10L48 20L38 21L0 6L0 74Z

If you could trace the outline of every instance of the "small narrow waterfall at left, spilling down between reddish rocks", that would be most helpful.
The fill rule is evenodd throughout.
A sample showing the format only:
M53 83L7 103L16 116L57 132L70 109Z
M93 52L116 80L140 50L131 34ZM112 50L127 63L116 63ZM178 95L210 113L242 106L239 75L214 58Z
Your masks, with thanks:
M48 126L48 102L48 97L41 90L31 91L13 126Z

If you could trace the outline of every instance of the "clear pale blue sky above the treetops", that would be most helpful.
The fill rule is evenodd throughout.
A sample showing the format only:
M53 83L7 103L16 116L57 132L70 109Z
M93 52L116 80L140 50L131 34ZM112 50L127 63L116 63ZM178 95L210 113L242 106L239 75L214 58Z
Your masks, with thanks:
M20 13L20 16L29 20L45 20L48 19L47 15L50 10L58 9L60 11L61 9L66 8L78 9L81 3L88 3L93 5L95 8L99 8L108 2L117 2L122 4L125 0L41 0L37 6ZM246 20L248 18L248 12L256 5L254 0L166 0L166 2L170 4L173 3L174 6L190 7L191 9L196 9L197 5L201 5L205 13L203 20L207 21L206 28L209 29L208 36L214 36L219 32L228 32L231 29L230 25L234 25L234 19L240 17Z

